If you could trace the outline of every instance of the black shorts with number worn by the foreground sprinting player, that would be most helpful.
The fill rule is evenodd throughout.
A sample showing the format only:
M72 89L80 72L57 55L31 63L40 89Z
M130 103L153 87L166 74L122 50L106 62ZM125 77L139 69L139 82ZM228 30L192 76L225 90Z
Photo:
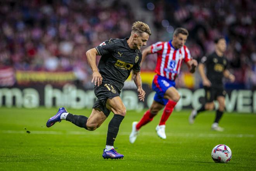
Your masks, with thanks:
M106 107L107 99L120 96L121 92L109 83L102 83L100 86L94 86L94 93L98 99L92 108L99 108L108 117L111 111Z

